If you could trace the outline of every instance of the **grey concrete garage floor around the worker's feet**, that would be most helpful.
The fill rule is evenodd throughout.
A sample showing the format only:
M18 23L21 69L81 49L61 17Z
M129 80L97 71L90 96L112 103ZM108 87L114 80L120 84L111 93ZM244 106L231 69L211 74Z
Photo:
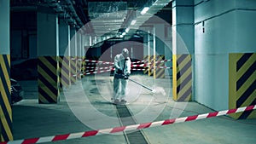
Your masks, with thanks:
M170 78L157 79L143 75L131 78L155 89L155 93L129 82L126 105L137 124L187 117L213 112L195 101L172 101ZM117 107L111 101L113 77L87 76L61 92L58 104L38 104L37 81L20 81L25 89L23 101L13 106L15 140L102 130L130 124L120 121ZM124 123L125 122L125 123ZM256 119L234 120L228 116L201 119L141 130L148 143L166 144L253 144L256 141ZM96 135L68 141L46 143L129 143L127 135ZM131 142L139 143L139 142Z

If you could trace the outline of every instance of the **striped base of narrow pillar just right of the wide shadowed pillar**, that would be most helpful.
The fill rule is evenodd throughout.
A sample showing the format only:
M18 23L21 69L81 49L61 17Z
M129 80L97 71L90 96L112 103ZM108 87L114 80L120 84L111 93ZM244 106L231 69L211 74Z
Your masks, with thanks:
M68 56L59 56L59 66L60 66L60 86L61 88L69 87L70 85L70 62Z

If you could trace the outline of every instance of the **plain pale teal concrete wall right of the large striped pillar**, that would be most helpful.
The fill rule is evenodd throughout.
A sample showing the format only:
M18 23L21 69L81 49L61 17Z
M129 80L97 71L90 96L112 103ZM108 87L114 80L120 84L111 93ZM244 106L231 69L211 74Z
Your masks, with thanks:
M194 1L195 101L228 109L229 54L256 51L256 1L200 2Z

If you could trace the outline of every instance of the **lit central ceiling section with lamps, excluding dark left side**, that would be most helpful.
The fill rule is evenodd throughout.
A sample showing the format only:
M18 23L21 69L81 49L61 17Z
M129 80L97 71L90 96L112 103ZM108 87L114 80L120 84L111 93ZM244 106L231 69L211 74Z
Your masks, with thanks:
M87 0L89 9L85 9L90 19L90 28L96 36L117 37L126 32L126 38L137 32L138 27L149 20L152 15L163 10L172 11L172 0L126 0L126 1L102 1ZM166 6L170 7L166 9ZM147 14L140 14L144 7L148 7ZM171 17L170 17L171 19ZM136 20L134 25L131 21Z

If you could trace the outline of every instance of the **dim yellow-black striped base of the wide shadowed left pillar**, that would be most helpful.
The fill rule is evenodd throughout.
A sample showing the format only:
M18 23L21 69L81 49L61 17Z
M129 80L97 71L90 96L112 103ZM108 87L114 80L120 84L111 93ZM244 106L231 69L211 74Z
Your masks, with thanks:
M57 103L60 99L57 56L38 57L38 102Z

